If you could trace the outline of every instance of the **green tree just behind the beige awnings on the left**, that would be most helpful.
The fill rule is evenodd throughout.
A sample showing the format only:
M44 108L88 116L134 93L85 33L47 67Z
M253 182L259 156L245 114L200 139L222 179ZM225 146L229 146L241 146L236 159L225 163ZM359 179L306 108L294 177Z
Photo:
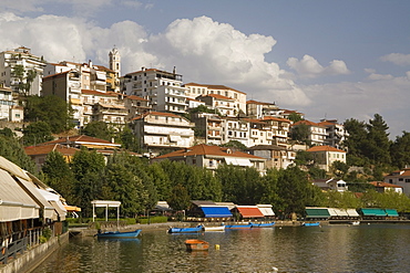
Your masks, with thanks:
M61 153L51 151L47 155L41 170L47 185L63 196L69 203L73 203L75 201L74 174Z

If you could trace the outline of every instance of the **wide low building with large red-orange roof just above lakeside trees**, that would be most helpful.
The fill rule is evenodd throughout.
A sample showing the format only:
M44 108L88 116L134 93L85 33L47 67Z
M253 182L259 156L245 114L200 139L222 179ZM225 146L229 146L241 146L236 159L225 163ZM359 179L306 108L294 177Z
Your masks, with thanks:
M172 151L152 159L152 161L161 160L183 161L187 165L194 165L209 170L215 170L219 165L234 165L238 167L254 167L260 174L266 172L266 159L263 157L249 155L243 151L235 151L227 147L196 145L185 149Z

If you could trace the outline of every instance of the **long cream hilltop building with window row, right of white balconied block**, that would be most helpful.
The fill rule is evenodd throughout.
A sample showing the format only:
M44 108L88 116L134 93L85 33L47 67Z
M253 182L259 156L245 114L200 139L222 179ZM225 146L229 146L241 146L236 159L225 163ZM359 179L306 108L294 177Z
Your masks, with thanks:
M186 95L191 98L197 98L198 96L205 97L208 95L219 95L224 97L224 102L229 102L229 104L234 104L233 116L240 114L240 112L243 114L246 114L246 93L244 92L227 87L225 85L211 85L197 83L187 83L185 84L185 87L187 88ZM226 106L226 104L222 104L218 106Z

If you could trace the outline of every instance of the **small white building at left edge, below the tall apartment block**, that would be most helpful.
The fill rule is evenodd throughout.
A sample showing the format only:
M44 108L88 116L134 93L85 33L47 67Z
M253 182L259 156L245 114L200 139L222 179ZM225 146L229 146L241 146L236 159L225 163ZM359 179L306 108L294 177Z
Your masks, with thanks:
M12 90L0 84L0 120L21 123L23 118L23 107L13 98Z

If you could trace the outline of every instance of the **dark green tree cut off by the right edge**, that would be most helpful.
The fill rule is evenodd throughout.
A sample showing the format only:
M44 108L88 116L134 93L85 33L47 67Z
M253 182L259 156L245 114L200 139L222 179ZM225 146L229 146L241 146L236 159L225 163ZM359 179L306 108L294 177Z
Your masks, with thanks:
M390 155L393 166L402 169L410 165L410 133L403 132L402 136L397 136L390 147Z

